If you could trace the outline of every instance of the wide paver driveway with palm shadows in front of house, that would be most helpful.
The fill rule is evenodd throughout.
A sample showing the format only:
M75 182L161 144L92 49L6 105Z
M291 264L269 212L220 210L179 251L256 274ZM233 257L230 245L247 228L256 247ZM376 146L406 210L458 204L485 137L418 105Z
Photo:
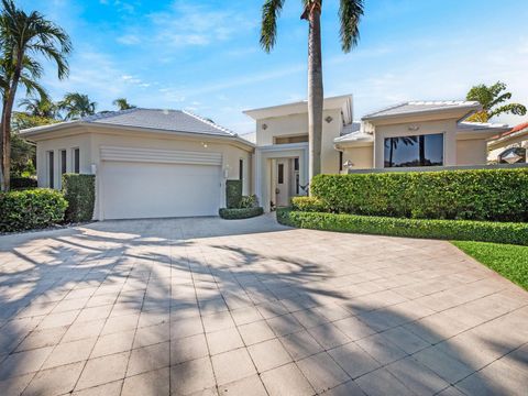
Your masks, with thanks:
M267 216L0 249L3 396L527 392L528 294L447 242Z

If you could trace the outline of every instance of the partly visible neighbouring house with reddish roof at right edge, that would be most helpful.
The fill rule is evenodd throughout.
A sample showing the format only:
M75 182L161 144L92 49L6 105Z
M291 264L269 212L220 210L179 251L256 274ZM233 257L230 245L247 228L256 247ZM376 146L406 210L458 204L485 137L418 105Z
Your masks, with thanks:
M491 163L527 163L528 122L493 136L488 143Z

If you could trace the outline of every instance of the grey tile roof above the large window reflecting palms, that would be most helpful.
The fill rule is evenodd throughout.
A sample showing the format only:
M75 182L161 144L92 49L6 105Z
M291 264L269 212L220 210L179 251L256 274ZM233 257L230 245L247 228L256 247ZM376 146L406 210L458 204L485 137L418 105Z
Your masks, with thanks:
M480 108L479 102L476 101L455 101L455 100L444 100L444 101L408 101L404 103L398 103L391 106L388 108L375 111L373 113L366 114L363 117L363 120L371 120L384 117L394 117L394 116L407 116L421 112L433 112L442 111L450 109L468 109L477 110Z

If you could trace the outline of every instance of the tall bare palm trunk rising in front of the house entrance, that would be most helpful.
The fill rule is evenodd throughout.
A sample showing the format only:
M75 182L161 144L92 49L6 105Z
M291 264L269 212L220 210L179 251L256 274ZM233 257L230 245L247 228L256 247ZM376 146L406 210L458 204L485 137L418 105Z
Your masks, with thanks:
M323 89L320 6L311 7L308 23L308 146L311 180L314 176L321 173Z

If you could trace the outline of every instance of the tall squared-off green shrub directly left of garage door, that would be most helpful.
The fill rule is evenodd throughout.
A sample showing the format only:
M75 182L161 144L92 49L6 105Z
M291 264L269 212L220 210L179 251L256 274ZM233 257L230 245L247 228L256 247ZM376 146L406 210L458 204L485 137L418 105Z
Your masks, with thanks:
M82 222L92 219L96 202L95 175L64 174L63 193L68 201L66 221Z

